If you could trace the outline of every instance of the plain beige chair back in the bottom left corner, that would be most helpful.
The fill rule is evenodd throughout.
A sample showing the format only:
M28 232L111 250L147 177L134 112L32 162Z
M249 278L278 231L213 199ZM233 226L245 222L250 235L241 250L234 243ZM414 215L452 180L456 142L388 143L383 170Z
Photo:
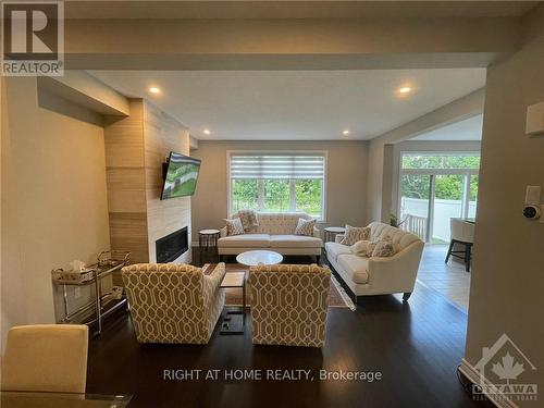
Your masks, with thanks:
M37 324L12 327L2 361L2 391L85 393L88 327Z

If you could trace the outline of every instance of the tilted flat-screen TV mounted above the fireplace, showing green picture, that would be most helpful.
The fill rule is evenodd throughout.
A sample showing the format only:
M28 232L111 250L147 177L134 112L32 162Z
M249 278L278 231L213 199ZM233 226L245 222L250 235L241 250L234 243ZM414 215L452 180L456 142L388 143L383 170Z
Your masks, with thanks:
M195 194L200 160L171 151L164 166L166 170L164 171L161 200Z

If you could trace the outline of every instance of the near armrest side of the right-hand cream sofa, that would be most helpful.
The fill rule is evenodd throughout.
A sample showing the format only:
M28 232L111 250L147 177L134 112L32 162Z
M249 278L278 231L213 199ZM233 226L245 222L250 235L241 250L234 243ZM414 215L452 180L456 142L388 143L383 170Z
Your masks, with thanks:
M423 246L416 242L391 258L369 258L369 284L390 293L412 292Z

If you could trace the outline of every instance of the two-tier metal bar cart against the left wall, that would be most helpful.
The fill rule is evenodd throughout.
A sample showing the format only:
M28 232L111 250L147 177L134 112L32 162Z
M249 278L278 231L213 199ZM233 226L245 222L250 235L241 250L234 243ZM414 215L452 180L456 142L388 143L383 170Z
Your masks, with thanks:
M114 272L128 264L131 252L107 250L98 255L97 262L87 267L85 271L74 272L63 269L51 271L52 283L62 288L64 318L59 323L83 323L89 326L96 323L95 336L102 332L102 321L111 316L115 310L127 308L127 300L124 290L120 286L113 286L112 290L102 294L102 279L110 276ZM92 300L71 310L67 286L94 285Z

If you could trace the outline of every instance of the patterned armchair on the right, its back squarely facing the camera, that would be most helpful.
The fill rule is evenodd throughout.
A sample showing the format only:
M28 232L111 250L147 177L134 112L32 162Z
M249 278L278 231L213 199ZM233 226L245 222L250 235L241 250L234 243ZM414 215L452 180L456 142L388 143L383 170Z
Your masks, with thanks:
M317 264L251 267L254 344L322 347L330 284Z

